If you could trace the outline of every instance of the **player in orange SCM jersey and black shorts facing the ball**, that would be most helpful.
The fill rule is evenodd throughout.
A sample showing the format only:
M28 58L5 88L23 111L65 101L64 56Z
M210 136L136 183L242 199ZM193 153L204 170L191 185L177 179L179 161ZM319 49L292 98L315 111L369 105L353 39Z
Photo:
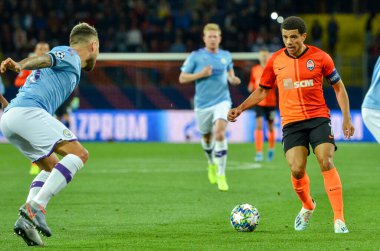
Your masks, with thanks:
M294 191L302 202L295 230L305 230L316 203L310 195L306 173L309 145L312 146L322 171L324 186L334 212L335 233L348 233L343 216L342 184L333 161L337 149L331 128L330 112L323 96L323 77L334 88L343 115L343 133L347 139L354 134L346 88L324 51L304 44L306 25L299 17L288 17L281 24L285 48L275 52L265 66L256 89L243 103L228 112L228 120L236 118L256 105L277 83L280 115L283 125L283 147L291 170Z

